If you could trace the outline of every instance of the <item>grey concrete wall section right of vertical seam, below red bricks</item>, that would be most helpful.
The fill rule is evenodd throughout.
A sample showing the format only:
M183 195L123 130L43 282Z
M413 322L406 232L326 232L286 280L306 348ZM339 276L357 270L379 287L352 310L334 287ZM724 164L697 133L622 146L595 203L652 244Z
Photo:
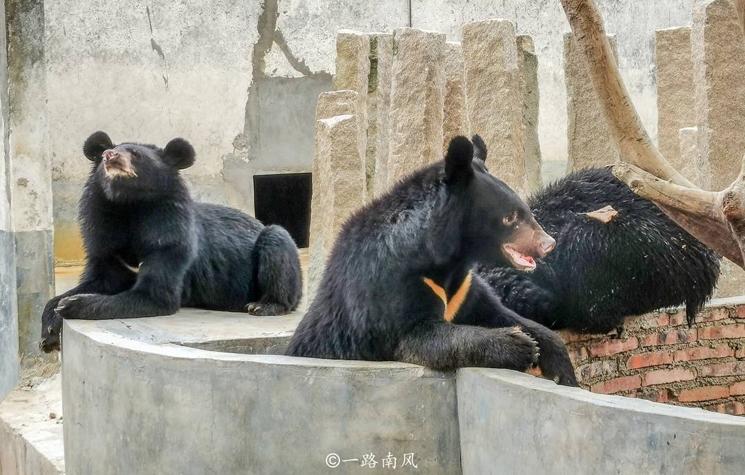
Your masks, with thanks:
M457 392L463 475L735 475L745 464L744 418L507 370L460 370Z

